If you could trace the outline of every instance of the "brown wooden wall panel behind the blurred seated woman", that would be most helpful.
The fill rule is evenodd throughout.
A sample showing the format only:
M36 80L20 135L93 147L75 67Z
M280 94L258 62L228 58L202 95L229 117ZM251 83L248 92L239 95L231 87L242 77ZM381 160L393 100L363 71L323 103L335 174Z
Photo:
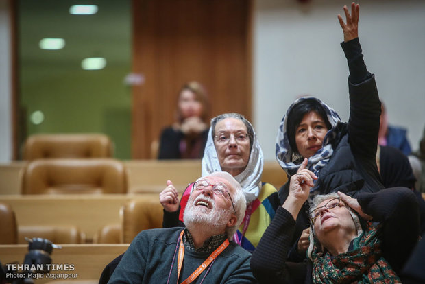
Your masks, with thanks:
M151 141L173 123L180 87L204 84L210 117L251 118L251 1L134 0L132 158L149 158Z

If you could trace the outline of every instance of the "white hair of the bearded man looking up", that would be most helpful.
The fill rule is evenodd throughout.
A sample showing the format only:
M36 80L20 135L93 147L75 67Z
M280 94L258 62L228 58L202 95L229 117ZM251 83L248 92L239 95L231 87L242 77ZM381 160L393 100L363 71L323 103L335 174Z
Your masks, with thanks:
M217 176L219 178L223 178L227 180L230 184L230 186L234 189L232 195L232 200L234 204L234 210L236 211L236 224L232 227L226 228L226 234L228 235L228 238L230 241L233 239L234 233L236 233L236 230L239 228L239 226L242 224L243 216L245 216L245 210L246 210L246 200L245 195L243 194L242 187L237 182L234 177L229 174L227 171L215 171L213 174L210 174L208 176ZM206 178L206 177L203 177ZM202 179L202 178L199 178Z

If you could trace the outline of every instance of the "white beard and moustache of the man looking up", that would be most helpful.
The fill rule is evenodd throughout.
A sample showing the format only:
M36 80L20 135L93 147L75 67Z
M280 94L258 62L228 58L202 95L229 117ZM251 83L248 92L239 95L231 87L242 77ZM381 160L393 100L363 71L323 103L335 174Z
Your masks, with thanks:
M208 209L205 206L195 206L199 199L208 201L213 206L213 209ZM195 201L192 197L189 198L183 219L184 225L189 230L196 226L197 228L202 228L204 232L210 232L213 236L226 229L226 224L230 219L230 212L226 209L218 209L213 198L199 195Z

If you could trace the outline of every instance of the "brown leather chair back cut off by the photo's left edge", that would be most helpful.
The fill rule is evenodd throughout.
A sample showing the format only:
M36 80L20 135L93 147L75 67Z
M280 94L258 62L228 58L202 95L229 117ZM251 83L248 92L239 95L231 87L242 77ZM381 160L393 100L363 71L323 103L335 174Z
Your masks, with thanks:
M0 244L17 244L18 229L12 207L0 203Z

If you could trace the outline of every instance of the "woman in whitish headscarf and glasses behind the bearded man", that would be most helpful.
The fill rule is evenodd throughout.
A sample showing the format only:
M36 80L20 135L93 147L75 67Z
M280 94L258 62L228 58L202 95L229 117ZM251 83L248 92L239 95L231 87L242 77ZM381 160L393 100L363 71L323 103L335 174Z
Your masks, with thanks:
M243 115L226 113L211 120L208 139L202 158L202 176L215 171L227 171L242 186L247 200L245 217L233 236L233 241L253 251L279 206L276 188L261 182L263 152L254 128ZM170 180L160 193L164 207L164 227L184 226L183 213L194 185L178 198Z

